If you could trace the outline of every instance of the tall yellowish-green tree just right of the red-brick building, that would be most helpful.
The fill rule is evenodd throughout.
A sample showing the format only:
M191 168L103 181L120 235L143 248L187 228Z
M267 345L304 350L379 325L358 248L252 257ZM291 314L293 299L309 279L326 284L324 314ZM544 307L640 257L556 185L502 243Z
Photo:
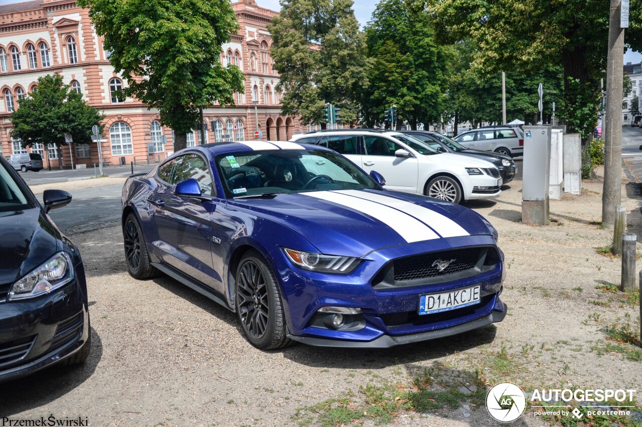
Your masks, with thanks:
M322 123L325 103L341 108L344 123L358 116L358 94L367 85L365 39L352 0L282 0L268 30L283 114Z

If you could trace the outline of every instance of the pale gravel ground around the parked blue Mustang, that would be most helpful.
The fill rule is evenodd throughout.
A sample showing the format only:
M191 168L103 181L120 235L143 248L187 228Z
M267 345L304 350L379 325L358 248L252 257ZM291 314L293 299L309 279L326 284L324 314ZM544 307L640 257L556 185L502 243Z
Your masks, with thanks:
M53 187L100 191L114 182ZM306 345L258 351L243 338L236 315L209 299L168 277L132 279L119 227L76 234L91 300L89 360L4 384L0 417L81 416L94 426L316 424L324 414L320 406L297 409L339 397L359 408L365 399L360 387L412 387L413 376L424 369L438 372L430 386L435 389L444 378L464 378L458 380L464 385L476 375L490 385L508 380L526 390L639 388L641 362L591 350L605 342L600 332L605 324L638 317L637 306L608 302L609 294L595 288L620 283L619 259L596 253L610 243L609 233L597 225L602 182L585 182L581 196L551 200L551 216L559 222L545 227L521 223L521 182L509 185L497 200L469 204L499 230L508 268L502 295L507 318L478 331L385 351ZM35 193L43 189L33 187ZM629 231L640 235L642 199L624 183L623 199ZM494 425L483 406L465 402L429 414L395 415L392 423L402 425ZM363 425L372 424L366 417ZM526 414L514 425L547 424Z

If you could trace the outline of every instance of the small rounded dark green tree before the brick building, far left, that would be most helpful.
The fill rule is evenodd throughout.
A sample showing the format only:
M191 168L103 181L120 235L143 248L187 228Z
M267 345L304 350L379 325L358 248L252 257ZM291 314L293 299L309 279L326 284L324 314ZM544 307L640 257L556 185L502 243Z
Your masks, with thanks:
M97 109L85 103L82 94L69 89L60 74L39 77L37 87L19 102L12 114L12 138L22 147L33 144L65 143L65 134L71 134L76 144L91 143L91 128L105 118Z

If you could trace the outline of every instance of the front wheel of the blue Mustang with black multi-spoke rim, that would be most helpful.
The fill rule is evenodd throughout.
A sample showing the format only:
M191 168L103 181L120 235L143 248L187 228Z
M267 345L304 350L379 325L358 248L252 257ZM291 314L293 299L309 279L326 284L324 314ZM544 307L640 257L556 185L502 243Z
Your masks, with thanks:
M285 315L279 286L272 268L256 250L243 255L236 271L234 298L245 338L261 350L286 347Z

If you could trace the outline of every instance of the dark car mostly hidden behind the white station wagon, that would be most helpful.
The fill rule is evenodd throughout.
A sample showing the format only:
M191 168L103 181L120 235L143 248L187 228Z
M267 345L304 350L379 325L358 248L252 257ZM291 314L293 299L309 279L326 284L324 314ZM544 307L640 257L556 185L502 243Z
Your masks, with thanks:
M515 162L512 157L508 155L469 150L456 141L453 141L453 139L438 134L437 132L428 132L425 130L404 130L403 133L415 137L419 139L419 141L423 141L432 148L435 148L437 151L466 155L491 162L498 168L504 184L508 184L508 182L512 181L517 173L517 166L515 166Z

